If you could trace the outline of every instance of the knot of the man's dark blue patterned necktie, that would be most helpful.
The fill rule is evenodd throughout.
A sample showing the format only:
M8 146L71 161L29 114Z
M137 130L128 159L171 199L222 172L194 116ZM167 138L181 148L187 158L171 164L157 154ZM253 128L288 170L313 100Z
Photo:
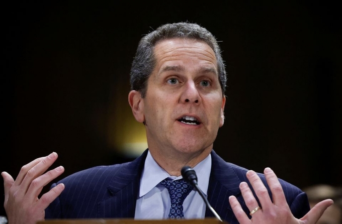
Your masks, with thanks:
M174 181L167 181L165 179L162 180L160 184L168 190L172 204L183 204L185 198L193 189L193 187L183 179Z

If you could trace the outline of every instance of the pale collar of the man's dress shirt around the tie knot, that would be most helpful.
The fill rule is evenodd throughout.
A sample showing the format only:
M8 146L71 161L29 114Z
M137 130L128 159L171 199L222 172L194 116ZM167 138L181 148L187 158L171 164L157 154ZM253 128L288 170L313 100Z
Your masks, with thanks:
M203 191L203 193L207 195L211 171L211 155L209 154L204 160L202 160L199 164L193 167L193 169L196 171L197 174L201 174L200 176L197 176L197 183L199 188ZM163 168L161 168L157 164L157 162L155 162L152 155L148 151L140 180L139 197L142 197L145 194L147 194L160 181L167 177L171 176ZM175 179L181 178L182 176L177 177Z

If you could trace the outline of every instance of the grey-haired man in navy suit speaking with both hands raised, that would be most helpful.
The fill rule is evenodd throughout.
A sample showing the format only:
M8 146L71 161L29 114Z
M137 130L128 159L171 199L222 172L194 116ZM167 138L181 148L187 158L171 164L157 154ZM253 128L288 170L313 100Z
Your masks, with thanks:
M231 224L315 223L332 204L327 199L310 210L306 194L270 168L257 174L213 151L224 123L226 73L216 39L205 28L166 24L146 35L130 75L128 101L135 119L145 125L148 149L133 162L72 174L41 198L42 187L64 171L57 167L44 173L56 153L24 166L16 180L3 172L9 223L35 223L44 217L214 216L191 186L177 184L184 166L200 174L198 185L220 218ZM185 199L173 194L177 185L188 193ZM169 195L184 202L175 205Z

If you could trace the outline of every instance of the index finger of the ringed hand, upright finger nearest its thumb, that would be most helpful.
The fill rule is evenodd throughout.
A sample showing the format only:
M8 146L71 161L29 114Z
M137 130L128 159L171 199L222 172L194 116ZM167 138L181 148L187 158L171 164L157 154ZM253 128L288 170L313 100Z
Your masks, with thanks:
M282 185L275 172L269 167L265 168L264 174L266 181L272 192L273 203L279 206L288 206Z

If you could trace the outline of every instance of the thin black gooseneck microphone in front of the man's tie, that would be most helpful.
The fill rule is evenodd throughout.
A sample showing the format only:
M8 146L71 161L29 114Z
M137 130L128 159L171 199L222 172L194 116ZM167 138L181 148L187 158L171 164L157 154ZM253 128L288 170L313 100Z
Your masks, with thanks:
M209 203L208 199L205 197L203 191L199 188L199 186L197 184L197 175L196 175L195 170L193 168L191 168L190 166L184 166L181 170L181 174L182 174L183 179L185 181L187 181L188 183L191 184L191 186L196 188L197 192L201 195L205 204L211 210L211 212L213 212L213 214L216 216L216 218L219 219L220 221L222 221L221 217L217 214L217 212L214 210L214 208L210 205L210 203Z

